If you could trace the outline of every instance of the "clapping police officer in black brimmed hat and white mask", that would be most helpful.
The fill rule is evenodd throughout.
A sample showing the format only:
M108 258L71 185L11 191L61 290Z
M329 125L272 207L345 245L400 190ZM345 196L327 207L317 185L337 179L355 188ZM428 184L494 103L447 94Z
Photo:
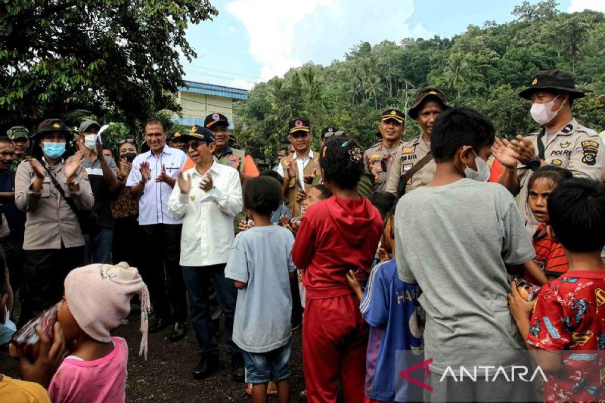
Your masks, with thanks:
M499 182L513 195L520 194L519 209L528 231L538 222L528 207L528 181L541 166L554 165L571 170L580 178L601 179L605 169L603 141L592 129L582 126L572 115L574 100L584 97L575 88L571 74L545 70L535 74L531 86L519 96L532 101L531 115L542 126L539 132L519 135L510 143L498 141L494 155L507 169ZM502 159L502 150L514 149L518 158ZM518 160L518 163L517 163Z

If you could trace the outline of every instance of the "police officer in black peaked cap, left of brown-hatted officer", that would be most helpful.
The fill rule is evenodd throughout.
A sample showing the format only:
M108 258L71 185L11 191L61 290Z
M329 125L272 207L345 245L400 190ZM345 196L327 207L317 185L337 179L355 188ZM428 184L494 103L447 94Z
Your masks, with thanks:
M385 190L395 154L402 143L401 136L405 132L404 112L397 109L382 112L378 130L382 134L382 141L365 150L364 161L374 176L374 190Z

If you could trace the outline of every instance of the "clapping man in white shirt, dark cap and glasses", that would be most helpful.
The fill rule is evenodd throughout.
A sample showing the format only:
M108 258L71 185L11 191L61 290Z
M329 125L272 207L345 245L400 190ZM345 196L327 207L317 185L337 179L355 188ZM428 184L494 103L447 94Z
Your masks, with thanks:
M226 279L224 269L234 240L233 221L243 201L237 170L217 163L214 134L193 126L181 136L195 167L178 175L168 201L175 220L183 220L181 266L189 295L191 323L198 342L200 362L193 370L195 379L206 378L218 369L218 342L212 331L208 283L212 280L225 317L224 338L229 348L233 377L244 379L241 350L232 341L237 289Z

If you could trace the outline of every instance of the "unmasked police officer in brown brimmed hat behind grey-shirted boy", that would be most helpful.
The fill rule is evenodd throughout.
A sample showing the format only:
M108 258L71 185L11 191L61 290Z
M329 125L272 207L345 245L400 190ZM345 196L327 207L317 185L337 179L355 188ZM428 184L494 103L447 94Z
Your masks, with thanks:
M422 166L417 173L411 176L405 184L405 192L418 189L428 184L435 173L435 161L423 160L431 149L431 134L433 124L437 115L445 109L450 108L445 100L445 94L434 87L425 87L420 90L416 102L408 111L408 115L418 122L422 129L420 137L414 138L402 144L395 155L393 167L388 176L387 192L398 195L399 180L402 175L422 161ZM428 162L427 162L428 161Z

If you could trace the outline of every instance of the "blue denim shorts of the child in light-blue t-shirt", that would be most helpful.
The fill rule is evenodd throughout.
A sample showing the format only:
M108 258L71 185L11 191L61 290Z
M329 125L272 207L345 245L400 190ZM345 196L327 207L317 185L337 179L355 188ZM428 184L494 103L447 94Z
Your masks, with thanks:
M246 382L249 384L266 384L290 378L290 349L292 338L284 346L266 353L243 352L246 364Z

